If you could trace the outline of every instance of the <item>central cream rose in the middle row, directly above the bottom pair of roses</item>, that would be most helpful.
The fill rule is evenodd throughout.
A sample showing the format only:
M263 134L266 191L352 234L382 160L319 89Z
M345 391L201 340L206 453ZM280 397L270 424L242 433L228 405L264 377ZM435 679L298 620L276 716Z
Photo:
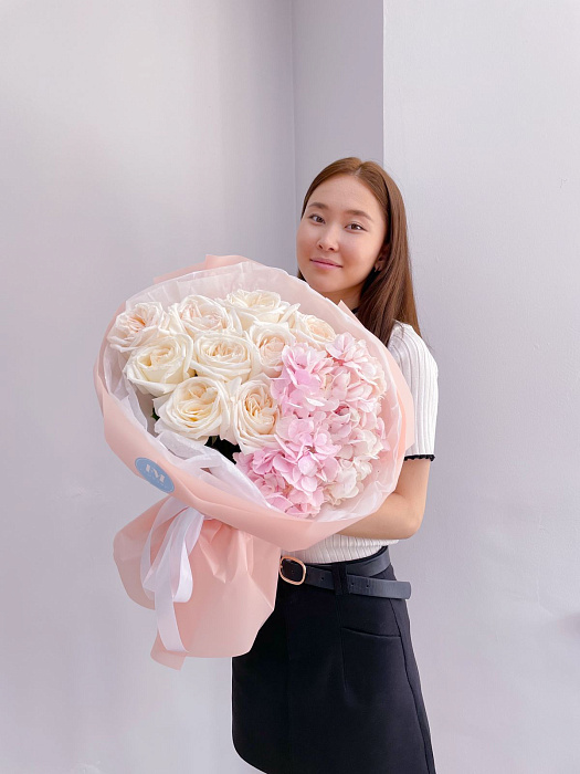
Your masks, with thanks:
M191 367L198 376L221 381L240 377L247 381L261 372L260 353L246 335L234 333L201 333L193 341Z

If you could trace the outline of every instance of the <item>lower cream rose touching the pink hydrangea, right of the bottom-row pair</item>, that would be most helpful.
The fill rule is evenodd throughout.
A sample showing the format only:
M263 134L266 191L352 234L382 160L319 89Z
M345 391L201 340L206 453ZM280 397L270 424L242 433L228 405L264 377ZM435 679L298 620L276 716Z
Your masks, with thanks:
M270 379L262 375L244 381L233 396L232 431L240 449L250 454L266 446L277 447L274 432L278 417L280 409L271 395Z

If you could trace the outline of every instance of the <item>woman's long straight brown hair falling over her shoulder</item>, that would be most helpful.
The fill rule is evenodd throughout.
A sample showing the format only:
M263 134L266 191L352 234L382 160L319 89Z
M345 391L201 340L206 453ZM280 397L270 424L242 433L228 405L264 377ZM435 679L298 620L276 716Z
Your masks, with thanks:
M365 280L357 317L386 345L389 343L397 320L412 325L421 336L413 293L403 198L394 180L379 164L361 161L356 156L340 158L329 164L314 178L306 191L300 220L314 190L335 175L354 175L363 182L375 194L387 221L384 241L377 255L377 258L382 257L383 265L379 271L372 269ZM297 276L304 280L299 270Z

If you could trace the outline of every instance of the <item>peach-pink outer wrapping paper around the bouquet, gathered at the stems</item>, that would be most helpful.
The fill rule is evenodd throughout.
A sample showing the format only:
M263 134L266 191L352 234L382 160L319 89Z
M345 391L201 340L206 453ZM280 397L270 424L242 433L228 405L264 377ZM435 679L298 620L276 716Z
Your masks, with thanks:
M207 255L203 263L156 278L155 282L164 283L192 272L236 263L256 265L241 255ZM271 271L280 273L281 270ZM312 293L308 286L306 289ZM156 441L136 418L128 416L106 387L103 367L106 336L125 306L125 303L119 306L110 321L94 367L105 439L137 475L140 473L136 460L141 460L141 471L145 464L148 480L160 488L166 487L169 494L116 534L114 558L122 582L134 602L156 608L158 624L165 621L165 635L161 638L158 630L151 649L151 657L158 662L180 669L187 656L210 658L245 653L275 605L280 546L309 547L355 524L368 513L335 521L288 516L183 471L180 467L182 460ZM378 342L342 302L339 308L359 326L360 337ZM387 347L380 342L379 345L393 377L401 416L393 475L389 491L382 492L382 502L394 490L404 451L414 441L414 420L412 397L404 377ZM200 519L202 523L201 526L198 524L196 532L196 537L198 534L199 537L188 551L183 535L188 525L193 526L189 517L196 514L202 514L204 519ZM177 520L182 521L178 523ZM193 540L191 533L190 529L189 543ZM165 545L164 540L169 544ZM160 578L165 578L166 585L170 583L173 598L166 598L161 604L158 593L156 605L151 589Z

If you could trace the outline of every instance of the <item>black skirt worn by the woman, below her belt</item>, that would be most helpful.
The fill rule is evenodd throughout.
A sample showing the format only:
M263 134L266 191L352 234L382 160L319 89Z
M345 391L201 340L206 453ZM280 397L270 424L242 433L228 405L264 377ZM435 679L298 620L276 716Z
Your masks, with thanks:
M391 564L372 577L397 579ZM278 577L272 615L232 658L232 740L267 774L435 774L405 599Z

